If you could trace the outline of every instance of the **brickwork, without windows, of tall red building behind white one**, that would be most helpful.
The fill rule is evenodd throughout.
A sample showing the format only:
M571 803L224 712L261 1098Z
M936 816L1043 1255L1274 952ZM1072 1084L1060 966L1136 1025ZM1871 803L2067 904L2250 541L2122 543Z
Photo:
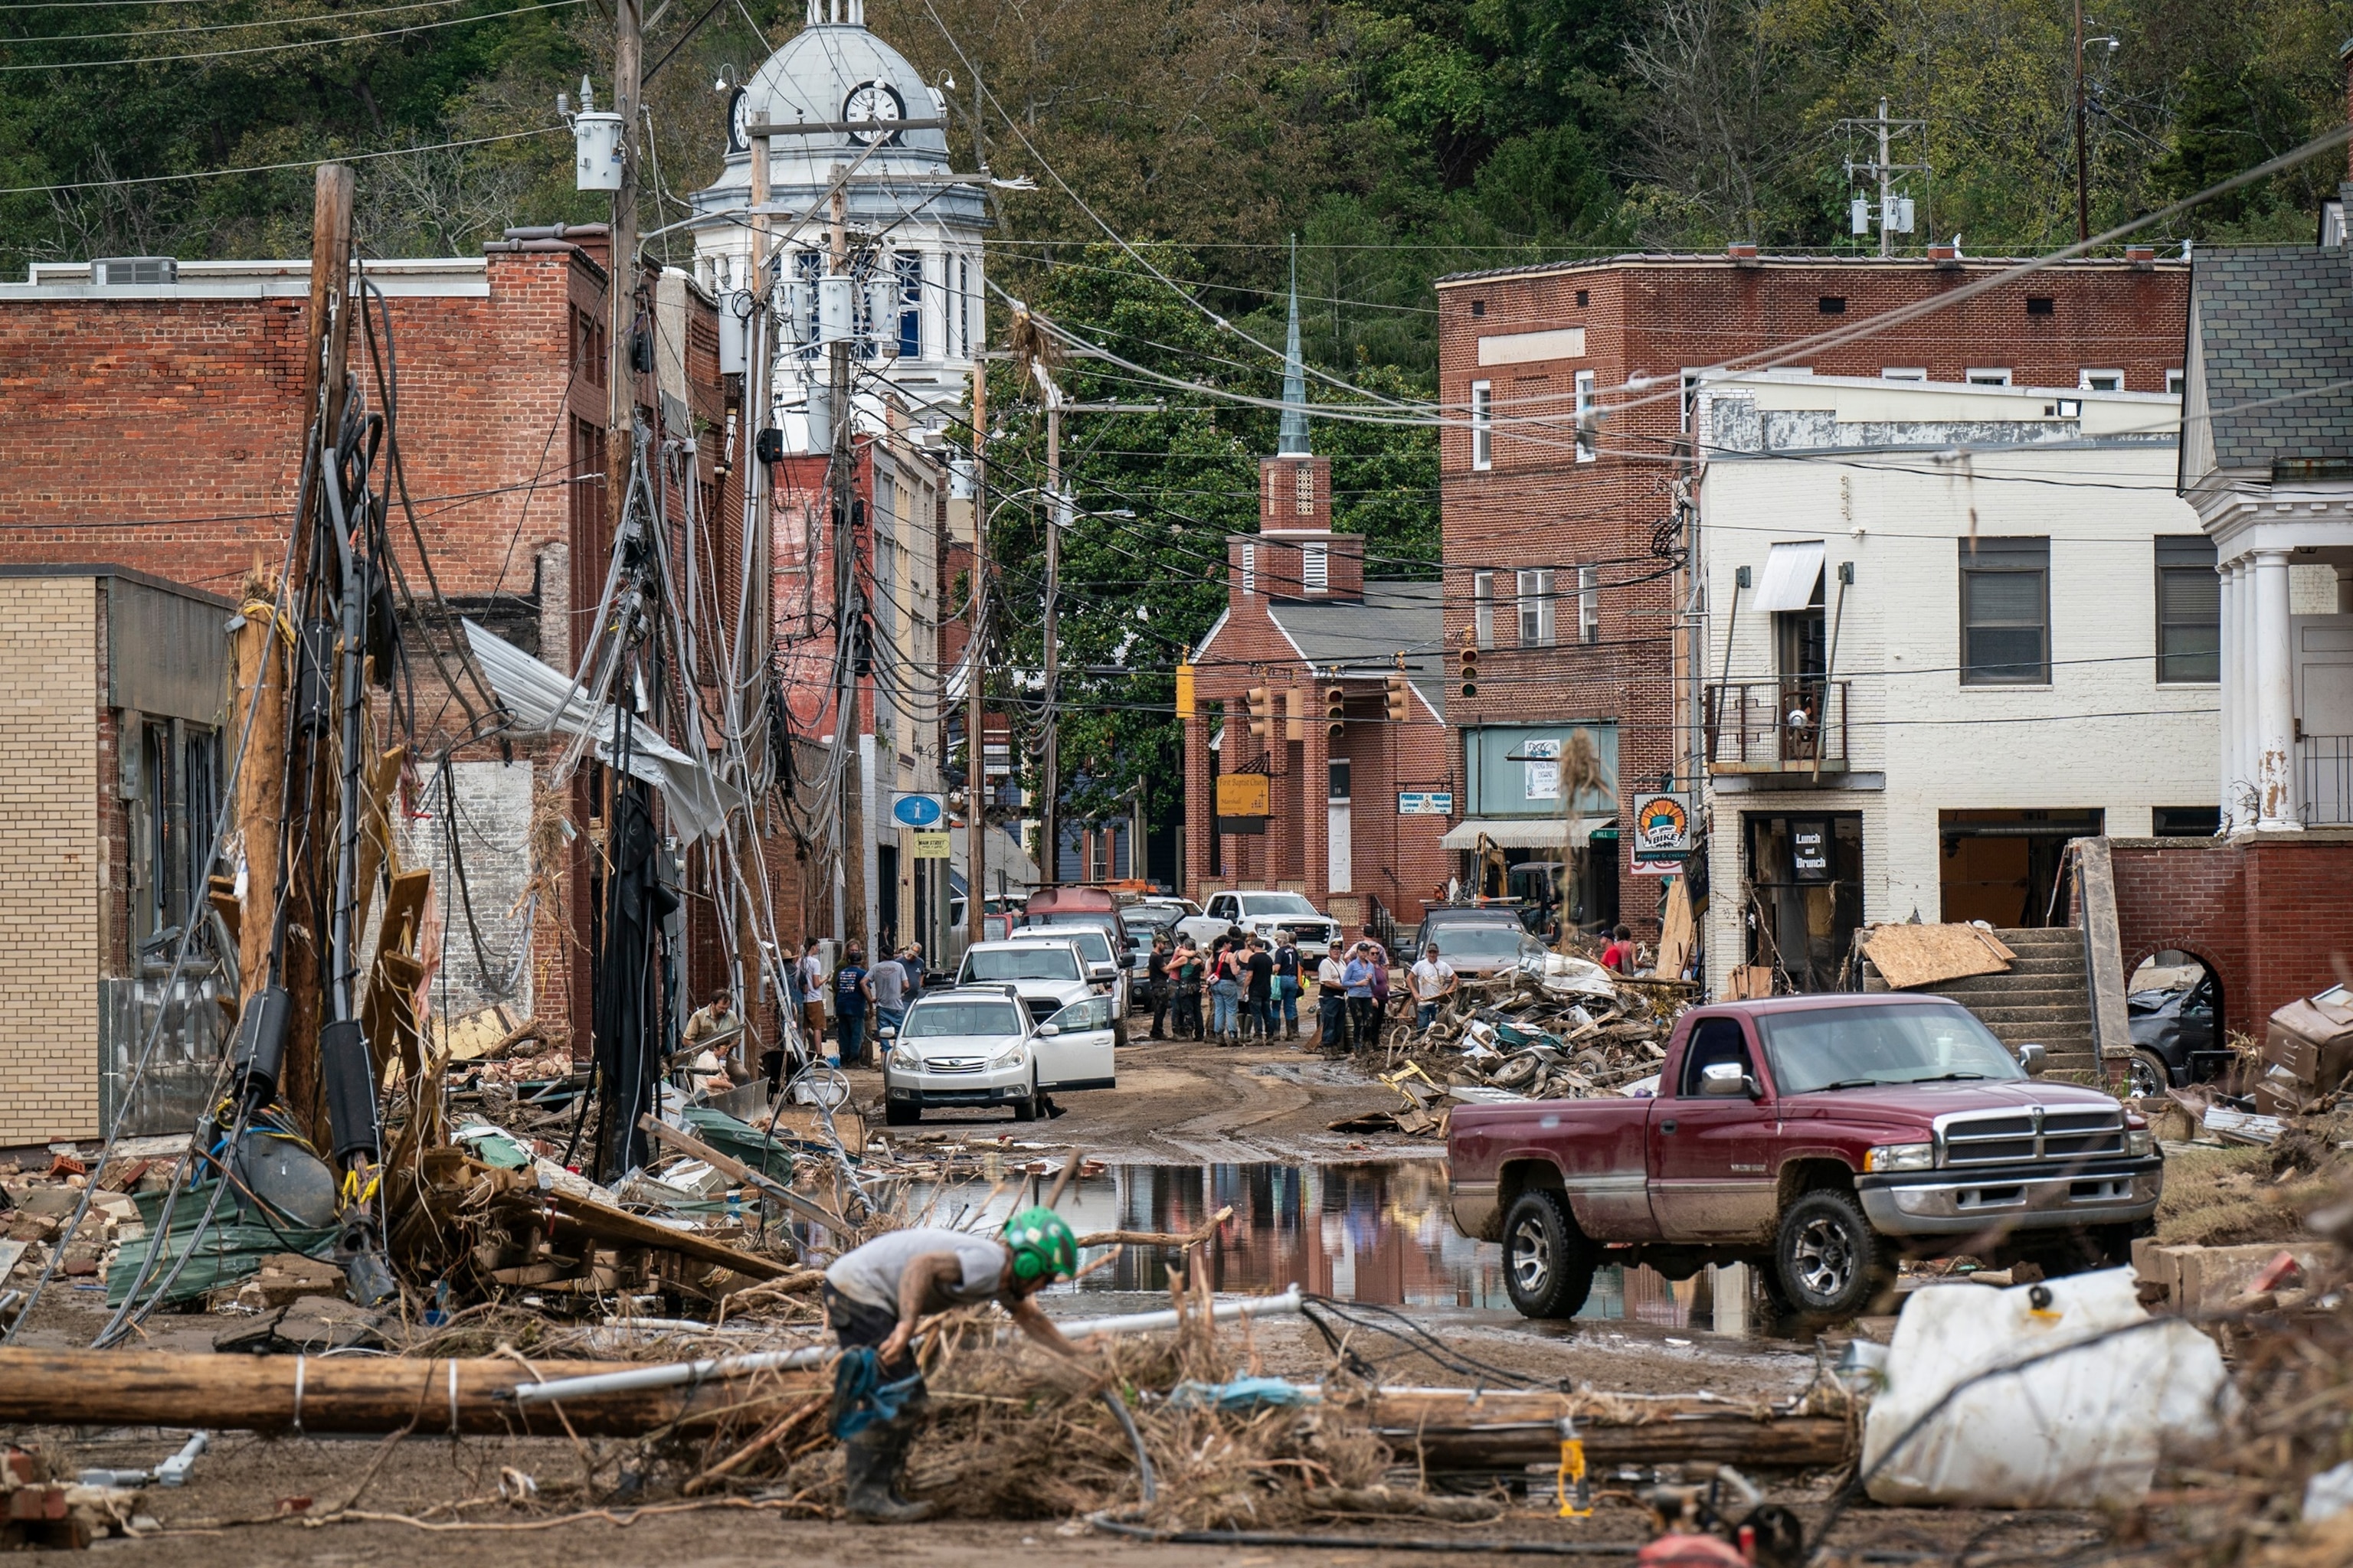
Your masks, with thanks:
M1518 724L1562 717L1617 719L1619 799L1680 771L1675 736L1673 616L1680 574L1652 550L1673 515L1671 482L1682 428L1680 374L1755 355L1821 331L1857 327L1880 310L1937 299L2000 263L1937 268L1927 261L1765 261L1725 259L1595 261L1534 273L1447 280L1438 289L1440 397L1457 411L1440 437L1445 524L1447 649L1471 628L1473 571L1497 574L1494 649L1480 656L1475 698L1452 696L1447 722ZM1586 294L1579 303L1579 292ZM1826 315L1821 299L1845 299ZM2052 301L2028 315L2028 296ZM2017 386L2075 386L2078 369L2122 369L2125 388L2162 393L2181 367L2188 270L2129 263L2068 263L2002 284L1951 310L1934 310L1859 341L1795 353L1821 376L1878 376L1920 367L1932 381L1960 381L1972 367L2002 367ZM1473 315L1473 310L1478 310ZM1579 360L1478 364L1478 339L1586 329ZM1762 360L1753 362L1762 364ZM1598 456L1574 456L1574 374L1593 371L1605 418ZM1621 390L1649 376L1642 393ZM1464 409L1471 383L1492 383L1494 465L1471 465ZM1541 416L1539 425L1511 425ZM1680 541L1678 541L1680 543ZM1513 571L1600 567L1600 642L1577 644L1572 599L1558 599L1558 646L1518 649ZM1569 578L1555 578L1567 595ZM1452 675L1452 672L1449 672ZM1624 835L1628 858L1633 835ZM1621 877L1631 865L1621 865ZM1645 931L1647 900L1631 877L1626 919Z

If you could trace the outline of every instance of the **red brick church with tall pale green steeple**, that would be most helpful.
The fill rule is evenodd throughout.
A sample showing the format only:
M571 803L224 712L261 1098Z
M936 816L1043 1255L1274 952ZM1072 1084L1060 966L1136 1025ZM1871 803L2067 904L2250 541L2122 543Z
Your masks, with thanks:
M1332 461L1308 451L1297 301L1289 357L1294 407L1282 451L1259 463L1259 531L1226 541L1226 611L1179 670L1184 889L1282 889L1341 924L1379 910L1412 924L1445 882L1438 842L1459 790L1438 583L1367 583L1365 538L1332 531ZM1252 722L1252 691L1271 722ZM1231 773L1266 778L1266 816L1219 816L1217 780Z

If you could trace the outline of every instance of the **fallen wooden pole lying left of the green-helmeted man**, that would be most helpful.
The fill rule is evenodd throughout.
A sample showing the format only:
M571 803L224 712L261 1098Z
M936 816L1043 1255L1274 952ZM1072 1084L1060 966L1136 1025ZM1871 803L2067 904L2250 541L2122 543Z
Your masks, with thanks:
M642 1371L642 1361L546 1361L546 1378ZM405 1356L207 1356L89 1349L0 1349L0 1427L136 1425L231 1432L400 1432L638 1436L720 1413L784 1410L833 1387L828 1371L732 1382L616 1389L560 1403L518 1403L532 1382L518 1361ZM558 1415L562 1410L562 1415Z

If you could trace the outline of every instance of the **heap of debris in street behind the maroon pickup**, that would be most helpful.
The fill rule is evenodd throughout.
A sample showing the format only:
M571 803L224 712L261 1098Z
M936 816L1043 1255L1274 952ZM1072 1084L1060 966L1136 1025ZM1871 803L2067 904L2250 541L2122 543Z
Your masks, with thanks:
M1334 1121L1332 1131L1402 1131L1445 1138L1447 1103L1586 1100L1657 1093L1675 1018L1697 999L1689 980L1621 976L1548 952L1520 969L1464 980L1426 1032L1393 1023L1381 1081L1395 1112Z

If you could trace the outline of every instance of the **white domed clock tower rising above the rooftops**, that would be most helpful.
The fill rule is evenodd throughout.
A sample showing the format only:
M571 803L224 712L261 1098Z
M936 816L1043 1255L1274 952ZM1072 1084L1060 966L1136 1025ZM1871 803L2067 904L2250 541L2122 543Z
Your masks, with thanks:
M856 282L854 404L866 430L887 423L882 390L896 390L918 430L960 418L984 341L984 254L991 228L986 176L958 174L948 158L948 101L904 54L866 31L864 0L809 0L807 24L744 82L727 106L720 179L694 193L694 273L736 322L751 315L753 127L767 143L767 216L779 343L774 423L795 451L809 437L809 393L826 397L816 348L819 289L831 270L835 183ZM845 129L864 125L904 129ZM816 129L784 132L788 125ZM734 339L741 355L741 336ZM725 353L725 350L722 350ZM741 369L729 364L727 369ZM819 409L821 411L821 409Z

